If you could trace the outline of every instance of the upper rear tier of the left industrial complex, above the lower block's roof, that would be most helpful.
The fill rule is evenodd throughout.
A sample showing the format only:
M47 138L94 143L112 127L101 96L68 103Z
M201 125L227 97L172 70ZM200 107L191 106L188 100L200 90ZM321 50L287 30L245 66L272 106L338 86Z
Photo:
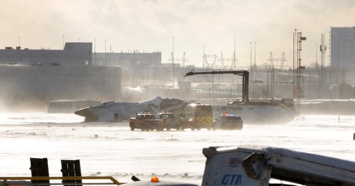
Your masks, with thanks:
M66 43L64 50L22 49L5 47L0 49L2 65L36 65L36 66L153 66L161 64L161 52L139 53L96 53L92 43Z

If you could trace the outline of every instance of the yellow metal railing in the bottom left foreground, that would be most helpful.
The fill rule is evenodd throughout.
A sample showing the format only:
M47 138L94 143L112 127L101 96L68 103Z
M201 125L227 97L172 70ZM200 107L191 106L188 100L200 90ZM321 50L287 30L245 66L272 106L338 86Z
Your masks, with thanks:
M3 181L2 186L48 186L48 185L122 185L112 176L68 176L68 177L0 177L0 181ZM111 182L104 183L32 183L25 180L110 180ZM9 183L9 181L11 181ZM1 183L0 183L1 185Z

